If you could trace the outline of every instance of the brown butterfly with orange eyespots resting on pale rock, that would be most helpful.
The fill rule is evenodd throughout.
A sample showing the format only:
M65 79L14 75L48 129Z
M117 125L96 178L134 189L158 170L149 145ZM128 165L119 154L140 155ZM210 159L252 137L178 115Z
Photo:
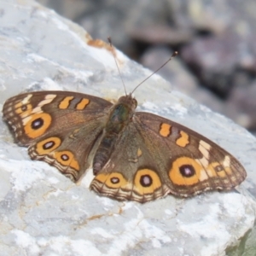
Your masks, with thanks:
M77 183L92 165L90 189L119 201L232 189L247 176L241 163L201 134L153 113L137 100L115 104L71 91L9 98L3 119L32 160L43 160Z

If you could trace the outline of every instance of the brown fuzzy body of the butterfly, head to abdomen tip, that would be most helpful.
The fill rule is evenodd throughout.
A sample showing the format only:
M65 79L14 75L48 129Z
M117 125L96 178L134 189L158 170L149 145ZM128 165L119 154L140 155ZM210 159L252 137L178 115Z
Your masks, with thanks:
M137 108L137 101L131 95L121 96L119 101L113 105L108 116L101 143L96 150L93 159L93 173L96 175L108 162L114 144L125 127L131 122L133 113Z

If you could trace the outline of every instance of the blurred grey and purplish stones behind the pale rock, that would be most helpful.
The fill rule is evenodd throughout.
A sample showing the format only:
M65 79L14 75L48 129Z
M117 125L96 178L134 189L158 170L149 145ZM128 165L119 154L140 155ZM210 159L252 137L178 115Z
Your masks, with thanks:
M256 135L255 0L38 0Z

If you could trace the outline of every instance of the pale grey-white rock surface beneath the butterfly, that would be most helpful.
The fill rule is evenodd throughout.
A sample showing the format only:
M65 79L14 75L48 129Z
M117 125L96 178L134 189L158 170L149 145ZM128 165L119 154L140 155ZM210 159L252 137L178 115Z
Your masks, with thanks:
M124 94L108 44L32 1L2 0L0 10L0 108L9 96L32 90L73 90L113 101ZM116 55L129 92L150 73ZM90 172L74 184L54 167L30 160L1 119L1 255L219 256L255 250L255 137L158 75L135 96L139 109L189 126L230 151L245 166L247 180L237 190L190 199L113 201L88 189Z

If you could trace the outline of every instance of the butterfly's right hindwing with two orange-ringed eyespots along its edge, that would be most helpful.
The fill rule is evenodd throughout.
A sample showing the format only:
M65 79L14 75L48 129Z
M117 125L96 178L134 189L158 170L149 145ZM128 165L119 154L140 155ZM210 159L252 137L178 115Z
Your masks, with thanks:
M164 178L158 173L143 137L130 123L115 143L110 160L91 182L90 189L119 201L153 201L171 192Z

